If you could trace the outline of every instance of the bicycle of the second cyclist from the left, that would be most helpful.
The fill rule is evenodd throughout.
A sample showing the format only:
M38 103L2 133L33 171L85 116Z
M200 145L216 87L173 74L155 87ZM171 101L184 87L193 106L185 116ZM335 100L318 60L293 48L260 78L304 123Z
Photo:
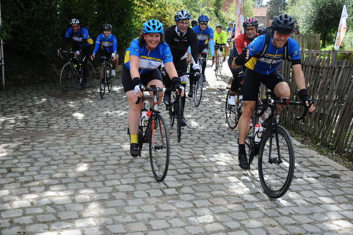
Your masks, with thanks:
M110 59L106 56L96 56L96 58L102 59L103 67L101 69L101 79L99 84L99 91L101 98L104 98L106 94L106 87L108 87L108 92L111 92L113 86L113 76L111 76L112 65L110 63Z

